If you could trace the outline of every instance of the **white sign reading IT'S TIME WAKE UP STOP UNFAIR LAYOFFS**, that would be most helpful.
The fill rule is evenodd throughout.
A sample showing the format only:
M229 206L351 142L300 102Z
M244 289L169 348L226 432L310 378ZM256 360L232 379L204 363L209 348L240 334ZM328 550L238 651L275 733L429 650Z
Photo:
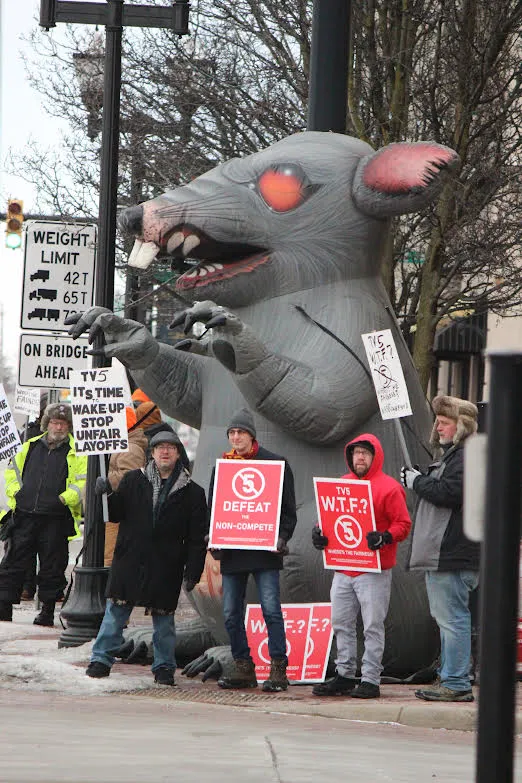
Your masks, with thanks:
M119 367L71 373L71 406L77 454L129 450L125 404L128 389Z

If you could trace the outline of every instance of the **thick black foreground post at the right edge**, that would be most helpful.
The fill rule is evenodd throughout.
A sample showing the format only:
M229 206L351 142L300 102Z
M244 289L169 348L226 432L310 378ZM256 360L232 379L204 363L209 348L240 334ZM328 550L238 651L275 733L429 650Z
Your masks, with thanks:
M491 362L482 553L477 783L511 783L515 732L522 476L522 353Z

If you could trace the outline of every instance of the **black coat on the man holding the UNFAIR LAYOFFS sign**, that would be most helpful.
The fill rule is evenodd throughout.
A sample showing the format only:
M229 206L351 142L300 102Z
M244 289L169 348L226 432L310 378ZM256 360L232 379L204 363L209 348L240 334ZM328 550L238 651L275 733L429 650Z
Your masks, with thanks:
M134 606L174 611L183 577L199 582L208 532L205 492L182 471L156 525L152 485L130 470L109 496L109 517L119 522L107 597Z

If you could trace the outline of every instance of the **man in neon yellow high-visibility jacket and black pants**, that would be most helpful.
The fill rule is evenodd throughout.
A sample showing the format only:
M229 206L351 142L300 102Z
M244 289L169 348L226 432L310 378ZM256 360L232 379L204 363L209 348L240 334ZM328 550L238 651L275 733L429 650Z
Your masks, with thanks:
M41 429L43 435L27 440L5 471L7 514L13 515L14 525L0 563L0 620L12 620L26 571L38 555L42 609L34 622L52 626L55 602L65 586L68 540L80 536L87 457L76 454L69 405L48 405Z

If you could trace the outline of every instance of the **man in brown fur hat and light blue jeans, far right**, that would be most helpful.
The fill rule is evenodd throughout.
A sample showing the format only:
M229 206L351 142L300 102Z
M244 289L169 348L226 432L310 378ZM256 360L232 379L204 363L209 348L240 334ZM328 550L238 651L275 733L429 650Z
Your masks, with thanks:
M440 458L425 474L404 467L401 480L418 497L408 568L426 572L431 614L439 626L440 685L415 691L425 701L473 701L469 595L479 581L480 545L464 534L464 441L477 431L477 408L441 395L431 442Z

